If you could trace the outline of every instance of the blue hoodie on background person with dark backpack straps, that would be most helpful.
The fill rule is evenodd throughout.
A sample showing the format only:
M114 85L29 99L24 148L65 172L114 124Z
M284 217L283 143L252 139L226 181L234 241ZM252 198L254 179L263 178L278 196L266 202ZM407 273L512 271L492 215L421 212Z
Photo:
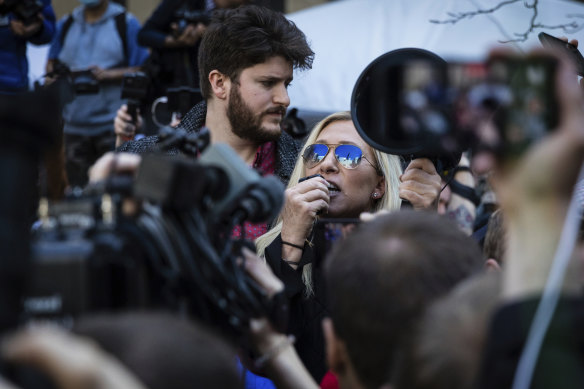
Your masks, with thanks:
M125 9L110 2L102 17L87 23L83 17L84 6L73 10L73 23L61 44L61 31L68 15L59 20L57 33L49 50L49 59L59 59L71 70L83 70L91 66L102 69L126 67L123 42L116 28L115 17ZM140 23L126 13L127 66L139 66L148 57L148 51L138 46ZM63 110L64 132L77 135L98 135L113 132L113 120L123 101L120 97L121 82L102 83L95 95L80 95Z

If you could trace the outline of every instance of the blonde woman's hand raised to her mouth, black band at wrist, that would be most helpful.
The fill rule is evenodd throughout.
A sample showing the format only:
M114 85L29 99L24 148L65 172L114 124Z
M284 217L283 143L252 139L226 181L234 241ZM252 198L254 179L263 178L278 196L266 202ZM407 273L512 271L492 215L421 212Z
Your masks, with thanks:
M322 177L314 177L286 189L284 196L282 240L304 246L304 240L312 230L317 212L326 213L328 210L328 183ZM290 246L283 246L282 249L284 258L290 261L300 260L302 251Z

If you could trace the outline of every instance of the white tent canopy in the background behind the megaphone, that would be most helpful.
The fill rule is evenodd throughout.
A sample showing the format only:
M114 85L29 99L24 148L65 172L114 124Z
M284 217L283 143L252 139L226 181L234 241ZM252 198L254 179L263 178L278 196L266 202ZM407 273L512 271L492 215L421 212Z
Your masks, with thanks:
M532 10L522 0L494 13L448 20L449 12L488 9L502 0L341 0L289 14L306 34L316 53L312 70L297 72L290 87L293 107L301 110L340 111L350 108L353 86L365 67L379 55L402 47L420 47L447 60L482 60L500 41L515 39L530 26ZM577 15L577 16L574 16ZM539 0L538 23L584 25L584 6L568 0ZM539 46L539 28L526 42L505 46L526 50ZM584 31L569 34L584 43Z

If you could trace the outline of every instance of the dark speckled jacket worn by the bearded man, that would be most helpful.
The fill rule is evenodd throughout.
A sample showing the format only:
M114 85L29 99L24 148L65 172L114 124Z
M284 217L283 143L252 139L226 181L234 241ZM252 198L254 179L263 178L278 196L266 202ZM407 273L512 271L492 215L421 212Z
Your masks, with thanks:
M184 117L178 128L182 128L187 132L198 131L205 125L205 117L207 115L207 104L201 102L195 105ZM144 154L156 149L158 136L148 136L138 141L130 141L121 145L117 151L128 152L135 154ZM296 158L302 148L302 142L292 138L286 132L282 131L282 135L277 142L277 158L275 175L280 178L284 185L288 184ZM177 155L179 151L172 149L167 152L170 155Z

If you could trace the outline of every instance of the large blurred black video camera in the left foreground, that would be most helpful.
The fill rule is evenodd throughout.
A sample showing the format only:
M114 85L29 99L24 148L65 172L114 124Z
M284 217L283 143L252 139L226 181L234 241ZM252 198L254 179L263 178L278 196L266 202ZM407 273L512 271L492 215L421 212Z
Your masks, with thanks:
M226 145L206 147L206 131L165 129L160 139L160 151L178 147L200 157L147 155L135 182L112 177L77 199L43 204L25 320L68 325L87 312L163 308L232 338L253 317L286 323L285 309L238 263L246 241L232 237L244 221L275 216L283 185L260 177ZM126 215L130 196L144 205Z

